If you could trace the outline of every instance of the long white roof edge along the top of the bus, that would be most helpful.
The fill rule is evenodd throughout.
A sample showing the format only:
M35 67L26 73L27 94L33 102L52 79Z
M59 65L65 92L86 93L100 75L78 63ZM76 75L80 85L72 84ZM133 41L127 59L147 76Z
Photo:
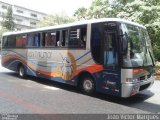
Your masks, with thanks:
M14 32L6 32L3 34L3 36L7 35L16 35L16 34L23 34L23 33L31 33L31 32L40 32L44 30L52 30L52 29L61 29L61 28L67 28L67 27L72 27L72 26L78 26L78 25L85 25L89 23L99 23L99 22L107 22L107 21L115 21L115 22L121 22L121 23L126 23L126 24L131 24L135 25L138 27L142 27L145 29L144 26L131 22L128 20L120 19L120 18L101 18L101 19L92 19L92 20L84 20L84 21L78 21L74 23L68 23L68 24L62 24L62 25L56 25L56 26L49 26L49 27L42 27L42 28L36 28L36 29L28 29L28 30L23 30L23 31L14 31Z

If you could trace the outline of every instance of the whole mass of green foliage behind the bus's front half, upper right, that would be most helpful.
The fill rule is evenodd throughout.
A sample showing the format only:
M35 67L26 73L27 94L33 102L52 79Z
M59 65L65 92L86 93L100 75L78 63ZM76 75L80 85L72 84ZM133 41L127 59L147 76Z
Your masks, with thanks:
M77 17L81 16L77 11ZM83 13L85 19L104 17L124 18L146 26L155 58L160 61L160 0L93 0Z

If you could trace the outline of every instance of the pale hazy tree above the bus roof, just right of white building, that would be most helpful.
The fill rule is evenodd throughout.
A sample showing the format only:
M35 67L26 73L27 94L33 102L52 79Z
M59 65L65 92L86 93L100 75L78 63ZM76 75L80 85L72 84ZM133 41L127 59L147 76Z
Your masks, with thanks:
M74 21L73 18L65 14L48 15L37 24L37 27L54 26L54 25L59 25L59 24L70 23L73 21Z

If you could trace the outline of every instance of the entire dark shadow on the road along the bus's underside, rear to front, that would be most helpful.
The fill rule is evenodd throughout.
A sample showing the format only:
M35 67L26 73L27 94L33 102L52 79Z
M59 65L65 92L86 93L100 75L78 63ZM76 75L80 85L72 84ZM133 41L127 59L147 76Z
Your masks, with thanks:
M4 72L3 74L18 77L18 75L16 73L5 73ZM77 87L54 82L54 81L43 79L43 78L36 78L36 77L28 76L26 80L35 81L35 82L42 84L42 85L57 87L57 88L67 90L70 92L80 93L80 90L78 90ZM101 99L104 101L109 101L109 102L125 105L125 106L131 107L131 108L137 108L137 109L151 112L151 113L158 113L158 112L160 112L160 105L157 105L154 103L149 103L146 101L147 99L151 98L152 96L154 96L154 93L151 92L150 90L146 90L146 91L141 92L141 93L139 93L133 97L130 97L130 98L119 98L119 97L101 94L101 93L96 93L92 97L97 98L97 99Z

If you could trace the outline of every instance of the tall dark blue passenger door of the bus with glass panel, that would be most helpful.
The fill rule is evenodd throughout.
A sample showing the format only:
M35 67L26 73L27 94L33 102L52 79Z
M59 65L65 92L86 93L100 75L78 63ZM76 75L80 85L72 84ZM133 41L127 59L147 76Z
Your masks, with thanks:
M120 78L121 71L118 65L118 40L116 23L104 24L104 39L103 39L103 63L104 72L103 79L105 89L110 94L120 95Z

